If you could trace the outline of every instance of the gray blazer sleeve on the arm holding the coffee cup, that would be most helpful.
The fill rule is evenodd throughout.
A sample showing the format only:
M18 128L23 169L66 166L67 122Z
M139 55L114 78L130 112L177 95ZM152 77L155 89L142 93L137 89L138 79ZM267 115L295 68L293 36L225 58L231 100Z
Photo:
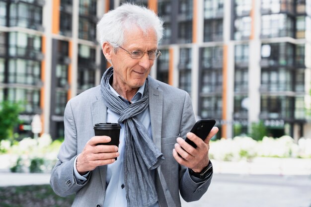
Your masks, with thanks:
M77 128L71 101L67 103L64 113L65 140L62 143L58 161L51 173L50 184L54 192L66 197L77 193L87 182L78 184L74 176L74 160L77 156Z

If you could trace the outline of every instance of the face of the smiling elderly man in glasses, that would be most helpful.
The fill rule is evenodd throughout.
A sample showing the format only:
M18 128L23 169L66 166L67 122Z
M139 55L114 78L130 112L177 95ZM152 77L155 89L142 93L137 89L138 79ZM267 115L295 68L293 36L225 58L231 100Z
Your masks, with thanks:
M124 33L125 42L121 45L128 52L146 52L141 59L133 59L131 55L121 48L112 53L113 85L126 88L142 86L154 65L154 60L149 60L148 51L157 49L156 33L150 29L146 35L140 29L133 29Z

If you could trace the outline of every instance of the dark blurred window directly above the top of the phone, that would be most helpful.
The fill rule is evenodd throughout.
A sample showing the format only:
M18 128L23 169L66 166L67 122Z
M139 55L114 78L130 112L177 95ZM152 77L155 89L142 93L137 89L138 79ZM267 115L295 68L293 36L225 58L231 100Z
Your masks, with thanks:
M202 119L221 119L223 114L223 99L221 96L202 97L201 113Z

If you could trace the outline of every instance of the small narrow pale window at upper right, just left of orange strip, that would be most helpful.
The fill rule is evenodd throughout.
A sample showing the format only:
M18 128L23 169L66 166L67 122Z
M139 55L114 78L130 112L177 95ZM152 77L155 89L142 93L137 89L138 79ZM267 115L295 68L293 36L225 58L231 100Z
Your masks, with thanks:
M251 34L251 17L244 16L234 19L234 40L249 39Z

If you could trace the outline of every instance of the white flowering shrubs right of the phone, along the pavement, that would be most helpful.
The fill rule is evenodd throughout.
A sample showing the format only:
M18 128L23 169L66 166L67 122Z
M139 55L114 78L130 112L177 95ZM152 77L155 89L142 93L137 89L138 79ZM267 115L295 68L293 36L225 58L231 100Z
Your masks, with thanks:
M222 138L211 141L210 146L210 158L223 161L251 161L256 156L311 158L311 138L300 138L298 144L289 136L264 137L261 141L249 137Z

